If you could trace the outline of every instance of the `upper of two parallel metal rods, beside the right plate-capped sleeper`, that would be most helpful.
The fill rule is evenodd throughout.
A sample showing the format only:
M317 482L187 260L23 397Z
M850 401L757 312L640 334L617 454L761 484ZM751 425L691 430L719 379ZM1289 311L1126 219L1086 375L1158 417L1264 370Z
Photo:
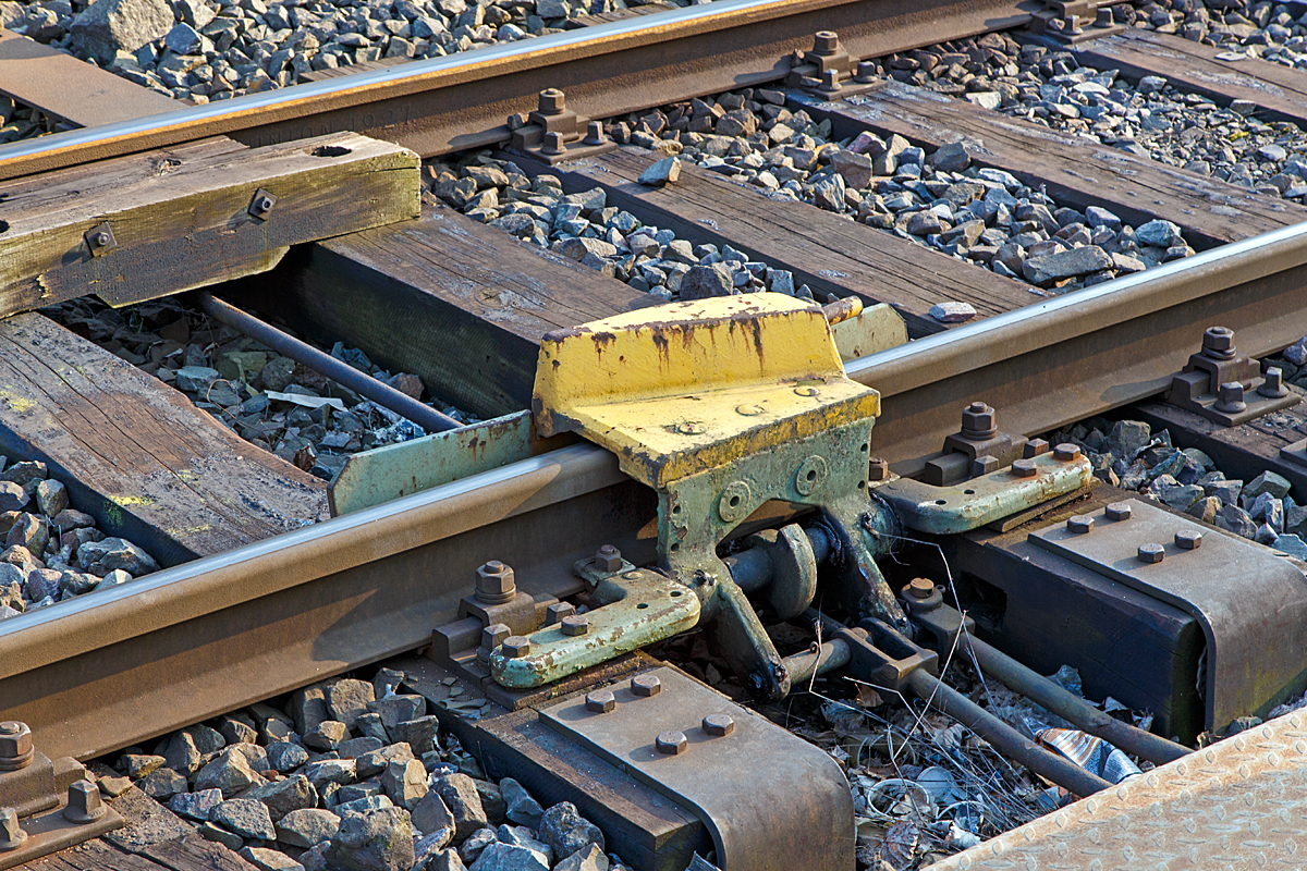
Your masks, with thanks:
M962 636L970 645L980 669L997 678L1013 692L1019 692L1035 704L1043 705L1059 717L1070 721L1077 729L1102 738L1127 753L1134 753L1157 765L1174 763L1191 751L1182 744L1170 742L1161 735L1144 731L1137 726L1121 722L1103 713L1080 696L1068 692L1048 678L1021 665L1008 654L997 650L971 635Z

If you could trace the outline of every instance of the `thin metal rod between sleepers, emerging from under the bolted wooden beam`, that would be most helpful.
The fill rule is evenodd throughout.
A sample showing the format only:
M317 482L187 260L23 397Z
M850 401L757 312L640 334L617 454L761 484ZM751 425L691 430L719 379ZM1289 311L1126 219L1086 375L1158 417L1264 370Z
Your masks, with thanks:
M457 430L463 426L450 415L440 414L435 409L422 405L408 393L401 393L389 384L378 381L366 372L359 372L349 363L337 360L331 354L324 354L316 347L306 345L293 336L288 336L272 324L265 324L257 317L247 315L221 299L216 299L213 294L201 293L200 307L213 320L238 329L278 354L303 363L315 372L320 372L332 381L348 387L354 393L371 400L383 409L389 409L395 414L408 418L427 432L444 432L446 430Z

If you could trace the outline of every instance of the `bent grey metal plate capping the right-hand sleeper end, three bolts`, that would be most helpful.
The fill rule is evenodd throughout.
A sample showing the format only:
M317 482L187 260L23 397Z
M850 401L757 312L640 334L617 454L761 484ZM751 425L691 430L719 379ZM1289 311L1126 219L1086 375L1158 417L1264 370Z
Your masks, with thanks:
M1137 499L1129 505L1128 520L1098 511L1087 534L1059 525L1030 541L1199 620L1208 639L1209 729L1264 709L1307 669L1307 578L1265 547ZM1176 546L1180 530L1201 533L1201 547ZM1165 546L1166 558L1140 562L1145 543Z

